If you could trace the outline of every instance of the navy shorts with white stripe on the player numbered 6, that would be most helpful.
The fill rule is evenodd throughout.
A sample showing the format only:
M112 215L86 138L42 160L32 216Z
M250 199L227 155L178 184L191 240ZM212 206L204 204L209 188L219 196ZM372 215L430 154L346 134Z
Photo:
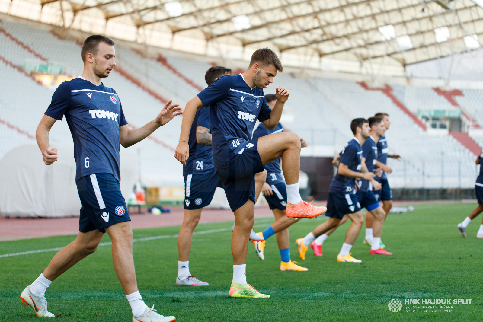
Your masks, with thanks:
M106 227L131 220L119 182L111 173L91 174L76 184L81 199L80 232L97 229L105 233Z

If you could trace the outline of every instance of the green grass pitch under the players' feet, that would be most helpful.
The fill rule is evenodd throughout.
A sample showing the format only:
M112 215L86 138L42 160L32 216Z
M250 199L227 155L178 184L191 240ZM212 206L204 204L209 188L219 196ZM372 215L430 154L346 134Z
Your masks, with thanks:
M312 250L298 258L295 239L305 236L319 220L303 220L290 230L292 260L308 272L282 272L275 236L267 241L265 261L250 245L247 280L270 299L228 297L232 278L231 232L197 235L190 257L191 273L210 283L181 288L177 273L176 238L134 243L139 290L148 306L185 321L477 321L482 305L482 245L476 238L477 217L468 238L456 229L475 204L426 204L414 212L390 214L383 241L392 256L369 255L361 231L354 247L361 264L338 263L336 256L349 227L345 224L324 243L322 257ZM322 217L321 217L322 218ZM325 220L325 219L323 219ZM256 231L272 221L256 221ZM231 223L200 224L197 231L230 227ZM363 228L364 229L364 228ZM177 234L179 226L137 229L134 238ZM62 247L75 236L0 242L0 254ZM103 241L109 241L104 237ZM55 252L0 258L0 321L37 321L33 310L20 303L20 292L48 265ZM131 321L131 311L112 264L110 246L72 267L49 287L49 311L64 321ZM397 298L402 309L393 313L388 302ZM454 304L452 312L413 312L405 298L472 299ZM405 308L409 307L410 312Z

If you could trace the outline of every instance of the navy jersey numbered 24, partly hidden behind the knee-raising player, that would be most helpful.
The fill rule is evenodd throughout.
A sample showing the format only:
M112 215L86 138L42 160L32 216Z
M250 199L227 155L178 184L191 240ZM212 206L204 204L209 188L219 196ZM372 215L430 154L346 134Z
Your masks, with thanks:
M189 131L189 157L183 166L183 175L202 174L213 170L212 147L196 141L196 128L203 126L210 129L210 107L202 107L196 111L195 119Z

